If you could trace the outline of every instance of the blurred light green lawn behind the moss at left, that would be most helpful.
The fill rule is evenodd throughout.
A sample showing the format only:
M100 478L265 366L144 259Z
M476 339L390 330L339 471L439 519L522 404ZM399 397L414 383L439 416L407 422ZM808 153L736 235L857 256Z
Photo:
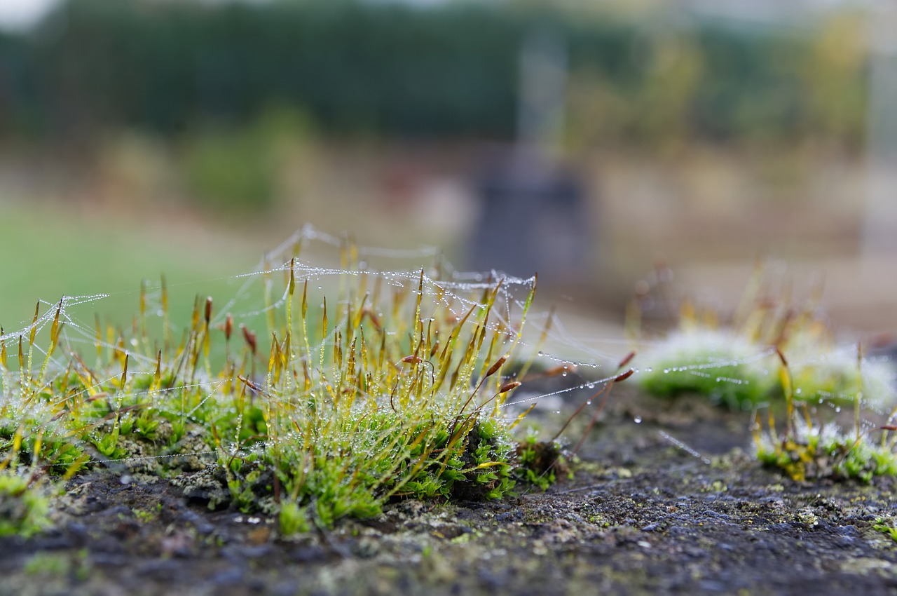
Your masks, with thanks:
M85 214L58 204L0 204L0 222L0 324L7 332L30 323L38 300L58 302L63 295L109 294L75 307L74 316L92 325L99 311L105 320L127 325L139 309L142 281L152 294L162 274L172 320L185 320L196 295L213 295L217 304L230 298L242 281L233 276L253 271L263 250L253 239L207 226Z

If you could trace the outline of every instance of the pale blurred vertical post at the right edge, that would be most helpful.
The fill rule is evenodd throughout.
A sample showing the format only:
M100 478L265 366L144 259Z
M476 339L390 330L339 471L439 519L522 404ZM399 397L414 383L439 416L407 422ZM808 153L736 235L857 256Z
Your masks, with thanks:
M867 258L897 254L897 4L874 4L868 16Z

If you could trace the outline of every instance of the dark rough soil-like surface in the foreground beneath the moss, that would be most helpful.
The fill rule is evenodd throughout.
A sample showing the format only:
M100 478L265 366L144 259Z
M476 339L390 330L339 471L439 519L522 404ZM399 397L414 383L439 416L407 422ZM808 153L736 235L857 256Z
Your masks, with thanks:
M897 593L897 543L872 527L895 480L762 469L747 418L623 393L545 493L398 502L292 539L164 480L77 478L56 530L0 540L0 594Z

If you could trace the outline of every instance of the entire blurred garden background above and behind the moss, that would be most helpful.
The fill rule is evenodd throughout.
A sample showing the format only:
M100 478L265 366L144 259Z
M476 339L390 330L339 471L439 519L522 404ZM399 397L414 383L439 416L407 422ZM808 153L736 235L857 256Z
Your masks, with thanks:
M666 267L734 308L770 256L897 329L890 2L0 0L0 30L7 329L304 223L608 320Z

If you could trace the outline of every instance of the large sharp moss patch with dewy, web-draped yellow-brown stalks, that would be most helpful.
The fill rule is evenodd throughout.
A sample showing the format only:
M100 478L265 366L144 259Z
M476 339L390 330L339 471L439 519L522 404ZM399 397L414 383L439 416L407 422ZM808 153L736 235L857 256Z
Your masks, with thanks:
M527 474L511 437L522 416L504 408L520 383L503 371L536 278L514 282L524 296L515 300L501 279L375 274L353 255L344 247L339 270L293 258L254 276L266 335L235 329L212 298L175 329L164 281L158 311L142 287L131 333L99 318L85 329L64 298L4 335L0 490L22 500L4 519L22 533L36 527L40 504L25 500L23 475L85 469L170 478L211 507L277 515L284 533L374 515L389 499L511 494ZM312 298L309 278L323 276L338 290ZM75 349L85 343L91 354Z

